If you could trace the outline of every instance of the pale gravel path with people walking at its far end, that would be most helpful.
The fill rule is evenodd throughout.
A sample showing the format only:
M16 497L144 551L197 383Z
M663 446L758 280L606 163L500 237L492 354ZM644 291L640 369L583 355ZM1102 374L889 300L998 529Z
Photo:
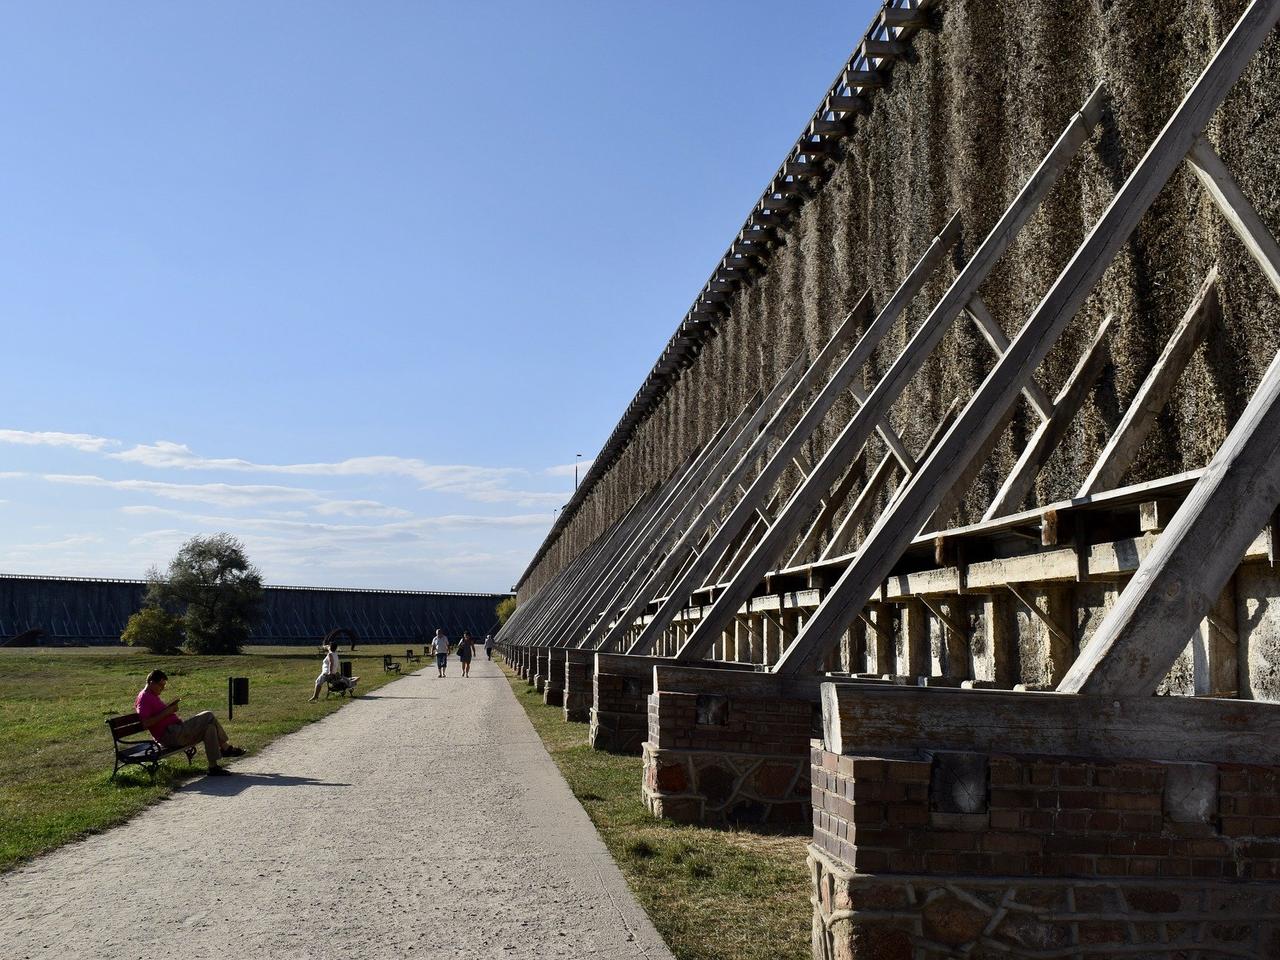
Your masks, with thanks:
M5 960L671 957L483 657L233 769L0 877Z

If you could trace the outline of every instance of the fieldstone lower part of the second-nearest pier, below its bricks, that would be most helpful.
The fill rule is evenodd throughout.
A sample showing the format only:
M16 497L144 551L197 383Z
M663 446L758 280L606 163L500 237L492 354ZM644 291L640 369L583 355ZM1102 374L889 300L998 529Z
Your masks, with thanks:
M680 823L808 823L809 758L644 744L644 801Z

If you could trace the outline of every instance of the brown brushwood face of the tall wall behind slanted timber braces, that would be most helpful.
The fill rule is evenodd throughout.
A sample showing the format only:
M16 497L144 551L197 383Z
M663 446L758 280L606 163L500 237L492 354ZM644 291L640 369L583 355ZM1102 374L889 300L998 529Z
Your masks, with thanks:
M882 86L863 91L859 109L865 114L856 116L851 133L820 143L803 140L780 169L776 183L788 168L806 172L786 182L791 195L783 198L794 201L794 211L783 220L768 210L760 216L759 205L753 211L751 229L730 248L739 256L716 265L609 438L605 456L524 573L521 602L676 470L762 384L778 381L801 351L812 356L864 291L881 307L952 214L964 232L955 255L963 264L1066 120L1103 82L1101 136L1082 150L982 285L991 314L1012 335L1244 8L1244 0L929 5L920 28L877 81ZM1270 224L1280 223L1277 64L1280 42L1272 36L1210 128L1215 148ZM838 88L837 82L833 91ZM815 116L829 114L819 109ZM817 132L815 123L832 122L810 122L806 134ZM813 145L808 154L806 142ZM1275 355L1280 306L1183 170L1039 369L1052 397L1102 317L1114 315L1110 362L1039 474L1028 506L1069 498L1080 485L1215 264L1222 323L1190 361L1125 483L1207 463ZM938 271L928 282L878 349L869 365L873 375L883 372L954 275L955 269ZM908 447L924 444L952 399L969 399L989 364L974 328L954 324L893 406L891 424ZM809 444L810 456L826 449L852 411L850 399L828 417ZM982 515L1033 428L1020 408L956 522ZM863 481L873 463L869 458ZM791 486L794 477L786 483ZM832 527L837 524L838 517Z

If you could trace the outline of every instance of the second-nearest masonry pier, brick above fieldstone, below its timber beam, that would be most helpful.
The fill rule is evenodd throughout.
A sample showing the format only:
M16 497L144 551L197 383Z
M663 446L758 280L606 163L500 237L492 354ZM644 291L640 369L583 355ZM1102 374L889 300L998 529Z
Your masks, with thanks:
M649 695L644 797L685 823L803 823L814 704L658 691Z

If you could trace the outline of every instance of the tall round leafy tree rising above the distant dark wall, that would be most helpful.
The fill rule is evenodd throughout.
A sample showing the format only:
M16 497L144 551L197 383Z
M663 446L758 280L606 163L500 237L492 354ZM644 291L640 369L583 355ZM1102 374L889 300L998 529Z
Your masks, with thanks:
M182 618L192 653L239 653L261 613L262 575L230 534L193 536L147 573L147 604Z

